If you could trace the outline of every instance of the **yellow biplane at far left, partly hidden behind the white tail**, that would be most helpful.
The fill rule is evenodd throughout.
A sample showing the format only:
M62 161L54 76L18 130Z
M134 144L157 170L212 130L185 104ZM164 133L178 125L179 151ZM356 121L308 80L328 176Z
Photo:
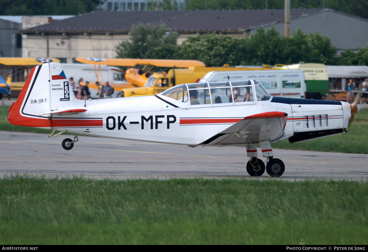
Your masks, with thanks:
M40 64L50 62L60 63L60 60L56 58L43 58L43 57L39 58L0 57L0 75L4 76L4 78L5 76L8 76L7 82L8 85L10 85L11 90L13 90L12 96L18 97L20 90L22 90L24 86L25 77L29 75L29 71L31 70L31 68ZM9 76L11 77L9 78ZM1 85L5 85L4 83L0 84L0 87L5 87Z

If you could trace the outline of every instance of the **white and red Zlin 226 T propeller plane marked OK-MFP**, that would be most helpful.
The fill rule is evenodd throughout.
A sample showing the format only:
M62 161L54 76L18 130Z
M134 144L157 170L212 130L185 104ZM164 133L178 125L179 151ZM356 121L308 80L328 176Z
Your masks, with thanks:
M272 97L256 80L180 84L155 96L77 100L61 64L32 69L9 110L11 124L77 134L195 146L245 146L247 172L284 173L272 142L290 143L347 132L356 104ZM60 131L54 134L55 131ZM265 163L257 158L259 145Z

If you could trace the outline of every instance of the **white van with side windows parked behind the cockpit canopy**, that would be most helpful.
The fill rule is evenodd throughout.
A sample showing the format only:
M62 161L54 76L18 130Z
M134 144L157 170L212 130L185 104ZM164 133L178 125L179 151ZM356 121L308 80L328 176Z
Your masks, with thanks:
M259 80L272 96L305 98L304 70L212 71L199 82L227 80Z

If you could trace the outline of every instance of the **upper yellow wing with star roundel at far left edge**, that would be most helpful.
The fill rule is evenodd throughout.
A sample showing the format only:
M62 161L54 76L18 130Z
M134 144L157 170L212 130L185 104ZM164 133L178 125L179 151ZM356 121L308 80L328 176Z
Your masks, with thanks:
M58 62L56 58L5 58L0 57L0 68L17 68L18 66L27 66L29 68L43 63Z

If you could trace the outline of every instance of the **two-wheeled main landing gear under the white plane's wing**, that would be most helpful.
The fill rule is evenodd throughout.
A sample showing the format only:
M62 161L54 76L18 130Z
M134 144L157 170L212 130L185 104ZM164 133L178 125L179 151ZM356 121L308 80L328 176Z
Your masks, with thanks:
M265 170L271 177L280 177L285 171L284 162L278 158L273 158L271 144L269 142L260 143L263 157L266 158L265 163L257 156L256 145L247 146L247 155L250 160L247 163L247 172L250 176L261 176Z

